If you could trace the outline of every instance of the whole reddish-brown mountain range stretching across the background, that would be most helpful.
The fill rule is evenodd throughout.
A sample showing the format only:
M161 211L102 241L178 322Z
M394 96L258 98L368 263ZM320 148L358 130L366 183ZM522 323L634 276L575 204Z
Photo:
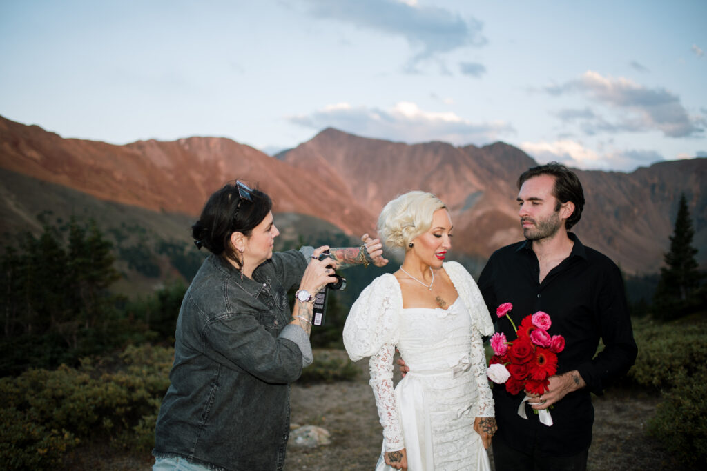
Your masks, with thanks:
M136 213L149 215L143 219L151 220L156 231L164 231L175 227L175 220L194 220L213 191L239 178L269 193L276 224L291 240L301 232L339 231L358 237L375 232L387 201L421 189L447 203L455 224L452 251L478 274L493 250L522 239L515 181L533 165L537 162L522 150L501 142L483 147L409 145L325 129L270 157L228 138L112 145L62 138L0 117L0 215L2 232L36 231L37 213L55 205L37 192L52 185L52 191L64 187L84 196L83 203L78 196L66 203L74 208L65 211L80 213L82 204L98 200L104 207L111 203L122 208L117 219L136 208ZM631 173L576 172L587 203L573 231L584 244L602 251L626 273L657 272L684 193L698 261L706 264L707 159L659 162ZM34 183L18 185L19 180ZM171 222L160 224L162 220ZM186 229L172 230L175 238L188 239Z

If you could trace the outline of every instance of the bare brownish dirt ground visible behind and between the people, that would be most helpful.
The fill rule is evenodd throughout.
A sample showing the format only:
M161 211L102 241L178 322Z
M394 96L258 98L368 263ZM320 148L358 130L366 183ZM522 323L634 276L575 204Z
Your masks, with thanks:
M293 386L292 422L324 427L332 443L307 449L291 442L286 470L373 470L380 454L382 429L368 386L367 360L358 362L358 366L363 374L355 382ZM659 398L624 390L609 390L594 398L589 469L680 469L658 443L645 436L646 422L659 402ZM489 455L493 466L493 455Z

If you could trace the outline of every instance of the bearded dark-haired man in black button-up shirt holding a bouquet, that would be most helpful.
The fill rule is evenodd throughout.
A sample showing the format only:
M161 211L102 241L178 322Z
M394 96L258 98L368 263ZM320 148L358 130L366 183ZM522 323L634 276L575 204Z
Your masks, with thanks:
M546 312L552 320L549 333L563 335L566 346L547 391L531 395L523 406L527 419L518 415L524 393L493 388L498 422L493 460L498 471L585 470L594 421L590 393L601 394L636 360L624 285L609 258L568 232L584 206L573 172L554 162L533 167L520 176L518 188L525 241L491 255L479 288L491 313L499 304L513 304L509 314L516 323ZM492 316L496 331L515 340L508 318ZM604 349L595 356L600 338ZM540 423L531 408L548 409L554 424Z

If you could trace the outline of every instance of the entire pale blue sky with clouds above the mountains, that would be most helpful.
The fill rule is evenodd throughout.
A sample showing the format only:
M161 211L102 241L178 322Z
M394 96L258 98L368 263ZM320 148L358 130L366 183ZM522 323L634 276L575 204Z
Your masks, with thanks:
M707 1L0 0L0 115L265 153L331 126L631 172L707 157Z

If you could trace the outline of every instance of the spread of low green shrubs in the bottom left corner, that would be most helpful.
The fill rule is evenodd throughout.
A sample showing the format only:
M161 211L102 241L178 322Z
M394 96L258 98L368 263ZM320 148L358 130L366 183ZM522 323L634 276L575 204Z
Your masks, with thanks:
M80 441L149 451L172 348L128 347L78 369L30 369L0 378L0 463L46 469Z

